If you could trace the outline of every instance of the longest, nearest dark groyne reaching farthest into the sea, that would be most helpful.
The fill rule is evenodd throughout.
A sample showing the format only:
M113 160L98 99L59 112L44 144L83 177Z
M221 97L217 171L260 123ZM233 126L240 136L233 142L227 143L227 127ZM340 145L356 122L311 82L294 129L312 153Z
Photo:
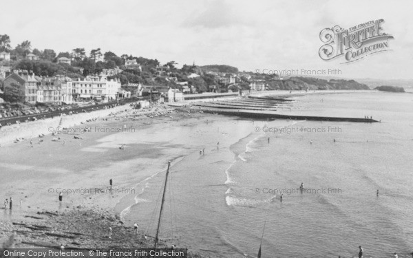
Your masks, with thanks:
M240 116L250 119L290 119L290 120L313 120L313 121L330 121L330 122L380 122L370 118L343 118L335 116L295 116L275 114L271 111L253 111L253 110L222 110L222 109L202 109L205 113L222 114L226 116Z

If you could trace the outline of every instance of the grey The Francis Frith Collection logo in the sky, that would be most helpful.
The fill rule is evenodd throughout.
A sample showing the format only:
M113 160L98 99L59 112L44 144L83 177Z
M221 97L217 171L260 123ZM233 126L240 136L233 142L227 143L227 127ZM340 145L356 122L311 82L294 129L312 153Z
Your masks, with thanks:
M320 40L325 45L319 49L321 59L328 61L339 56L351 63L370 54L389 51L389 39L393 36L383 32L383 19L368 21L344 30L339 25L320 32Z

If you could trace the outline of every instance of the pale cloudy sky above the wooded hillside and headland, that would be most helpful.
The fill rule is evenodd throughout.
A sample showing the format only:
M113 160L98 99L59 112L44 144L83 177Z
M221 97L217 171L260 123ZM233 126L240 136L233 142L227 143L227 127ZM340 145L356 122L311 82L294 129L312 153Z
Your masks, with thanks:
M232 65L240 71L301 69L343 78L413 78L413 1L326 0L20 0L3 1L0 34L12 47L87 53L100 47L191 65ZM324 61L319 34L384 19L392 51L343 64ZM332 75L332 74L330 74Z

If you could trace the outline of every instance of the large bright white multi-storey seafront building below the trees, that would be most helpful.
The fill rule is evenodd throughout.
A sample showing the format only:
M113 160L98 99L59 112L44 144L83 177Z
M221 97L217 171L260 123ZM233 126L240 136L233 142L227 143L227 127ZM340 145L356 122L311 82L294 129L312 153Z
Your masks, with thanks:
M120 82L118 80L107 80L106 76L87 76L85 79L73 82L73 95L78 100L116 100L118 91L120 89Z

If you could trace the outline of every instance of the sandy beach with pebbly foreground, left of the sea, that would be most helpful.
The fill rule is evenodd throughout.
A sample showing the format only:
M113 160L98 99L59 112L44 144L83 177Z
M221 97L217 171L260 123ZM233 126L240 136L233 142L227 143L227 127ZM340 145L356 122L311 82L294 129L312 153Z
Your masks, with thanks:
M131 199L137 191L128 182L132 179L139 182L151 177L154 171L165 171L169 160L173 165L173 160L185 153L173 146L162 146L160 142L166 140L162 136L152 142L136 142L129 135L143 130L156 133L158 127L166 125L184 127L202 119L212 118L199 112L173 111L164 105L140 111L125 105L104 112L63 117L60 133L56 135L48 128L56 128L60 118L3 128L0 195L12 197L13 208L1 207L1 242L6 242L14 233L16 247L60 246L63 241L78 248L101 248L114 245L105 239L107 224L112 224L116 227L114 230L124 234L118 237L122 246L151 247L144 243L142 234L132 239L125 236L134 232L128 231L131 225L123 225L120 213L129 202L135 202ZM12 143L22 132L26 138ZM46 135L40 138L40 133ZM156 164L152 162L154 158L158 161ZM129 173L133 169L138 175ZM109 179L113 180L112 187ZM63 202L58 200L60 192ZM82 222L84 213L89 215ZM102 222L94 225L94 216L103 218ZM78 218L76 222L74 217ZM59 219L62 222L58 222ZM63 228L59 228L61 223L65 224ZM79 235L66 238L47 235L50 231L64 235L69 229ZM42 230L44 234L40 233ZM73 237L80 239L67 242ZM100 241L102 238L104 241ZM129 244L123 239L129 239Z

